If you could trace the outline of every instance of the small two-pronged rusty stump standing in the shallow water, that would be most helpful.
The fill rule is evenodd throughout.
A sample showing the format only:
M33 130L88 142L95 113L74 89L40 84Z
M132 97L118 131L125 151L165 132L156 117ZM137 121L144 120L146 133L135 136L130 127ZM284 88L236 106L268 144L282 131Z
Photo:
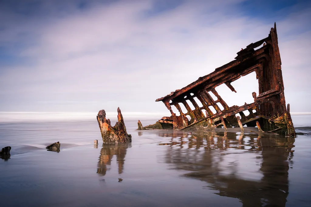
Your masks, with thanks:
M101 137L104 143L125 143L132 142L131 134L126 132L123 116L118 108L118 122L114 127L110 125L110 120L106 119L105 110L100 110L97 115Z

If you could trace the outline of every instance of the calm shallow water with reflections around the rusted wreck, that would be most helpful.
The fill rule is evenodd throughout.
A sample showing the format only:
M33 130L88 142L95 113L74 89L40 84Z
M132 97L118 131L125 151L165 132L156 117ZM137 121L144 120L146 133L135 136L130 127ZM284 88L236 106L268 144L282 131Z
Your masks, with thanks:
M8 206L310 206L309 120L293 116L306 133L295 139L125 120L132 143L120 145L102 144L96 120L1 123L0 147L12 150L0 195ZM45 149L57 141L60 152Z

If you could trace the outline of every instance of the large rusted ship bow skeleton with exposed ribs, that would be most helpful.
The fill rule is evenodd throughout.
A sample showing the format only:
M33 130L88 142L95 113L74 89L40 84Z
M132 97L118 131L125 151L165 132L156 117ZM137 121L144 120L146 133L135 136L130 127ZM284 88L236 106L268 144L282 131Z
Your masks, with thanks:
M261 48L254 50L262 44ZM214 72L199 77L197 81L165 97L156 99L156 101L162 101L172 114L171 117L163 117L159 122L172 124L173 129L179 130L212 130L221 126L224 128L239 126L235 116L239 113L242 125L256 126L256 121L258 121L264 131L295 136L289 104L287 109L285 105L276 24L274 24L274 28L271 28L268 37L251 43L237 55L235 60L216 68ZM215 87L225 84L230 90L236 92L231 82L254 71L258 79L259 95L257 96L253 92L253 103L229 107L217 93ZM217 100L214 100L208 92L213 93ZM195 97L202 103L202 107L198 106L194 100ZM186 100L193 104L194 110L190 108ZM182 112L179 104L185 106L186 113ZM171 105L178 109L180 116L176 116ZM220 105L224 108L223 110L220 109ZM209 107L214 108L216 113L213 113ZM243 113L245 110L249 111L248 116ZM187 115L191 117L190 121L188 121Z

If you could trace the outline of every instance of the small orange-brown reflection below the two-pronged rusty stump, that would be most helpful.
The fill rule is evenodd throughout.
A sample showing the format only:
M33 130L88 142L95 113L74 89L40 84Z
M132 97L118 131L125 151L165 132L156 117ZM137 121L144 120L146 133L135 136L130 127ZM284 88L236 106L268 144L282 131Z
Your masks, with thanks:
M97 164L97 174L104 176L106 172L110 170L111 160L114 155L117 158L118 174L122 174L125 155L128 147L131 147L131 143L103 144L100 150L99 161Z

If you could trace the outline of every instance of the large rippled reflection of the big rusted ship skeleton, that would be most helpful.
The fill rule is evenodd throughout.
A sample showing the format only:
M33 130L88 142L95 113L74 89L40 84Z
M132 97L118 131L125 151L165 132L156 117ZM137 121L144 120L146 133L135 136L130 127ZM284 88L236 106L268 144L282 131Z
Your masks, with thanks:
M285 206L294 138L233 132L168 133L165 162L243 206Z

